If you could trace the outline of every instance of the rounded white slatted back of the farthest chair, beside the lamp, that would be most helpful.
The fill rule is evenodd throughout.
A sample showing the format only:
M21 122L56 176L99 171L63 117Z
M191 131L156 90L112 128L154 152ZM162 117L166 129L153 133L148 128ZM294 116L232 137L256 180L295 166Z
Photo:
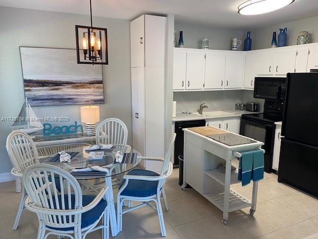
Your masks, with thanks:
M96 144L127 144L128 129L126 124L116 118L105 119L96 129Z

